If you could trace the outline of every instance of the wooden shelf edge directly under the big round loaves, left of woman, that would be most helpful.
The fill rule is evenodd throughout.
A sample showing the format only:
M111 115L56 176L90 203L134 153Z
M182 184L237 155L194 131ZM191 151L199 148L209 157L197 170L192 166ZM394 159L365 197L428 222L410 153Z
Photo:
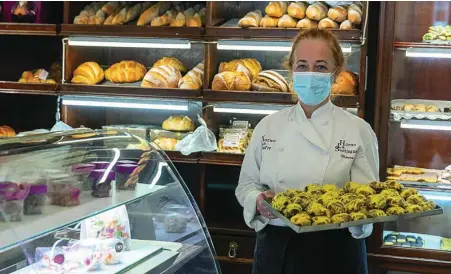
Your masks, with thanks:
M101 95L101 96L124 96L124 97L149 97L169 99L200 99L200 90L189 89L153 89L132 86L109 86L109 85L76 85L62 84L60 94L64 95Z

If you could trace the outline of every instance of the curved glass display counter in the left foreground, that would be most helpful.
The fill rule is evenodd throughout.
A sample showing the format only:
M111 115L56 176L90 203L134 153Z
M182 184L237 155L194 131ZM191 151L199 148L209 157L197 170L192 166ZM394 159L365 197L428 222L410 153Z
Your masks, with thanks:
M0 141L1 273L219 273L203 217L155 144L116 130Z

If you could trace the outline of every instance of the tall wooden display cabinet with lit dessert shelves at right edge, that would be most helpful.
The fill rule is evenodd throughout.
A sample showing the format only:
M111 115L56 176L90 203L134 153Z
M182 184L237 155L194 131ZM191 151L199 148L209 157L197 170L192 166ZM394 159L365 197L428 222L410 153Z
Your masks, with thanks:
M440 216L387 223L376 230L377 240L372 240L378 247L369 251L371 256L398 258L386 270L416 273L420 265L421 273L451 271L448 8L449 3L434 1L382 4L385 46L379 53L376 106L381 177L415 187L444 210ZM415 260L415 267L403 265L409 260Z

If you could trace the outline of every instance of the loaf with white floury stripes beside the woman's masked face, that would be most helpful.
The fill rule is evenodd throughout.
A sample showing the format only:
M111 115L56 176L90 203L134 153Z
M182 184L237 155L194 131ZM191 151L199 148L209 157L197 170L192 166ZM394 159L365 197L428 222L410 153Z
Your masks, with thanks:
M256 91L289 92L287 80L272 70L260 72L252 80L252 88Z

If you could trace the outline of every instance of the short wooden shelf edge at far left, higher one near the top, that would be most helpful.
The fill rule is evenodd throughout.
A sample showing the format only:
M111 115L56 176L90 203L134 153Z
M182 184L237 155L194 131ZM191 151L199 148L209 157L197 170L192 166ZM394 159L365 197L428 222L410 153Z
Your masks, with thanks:
M0 34L56 36L55 24L0 23Z

